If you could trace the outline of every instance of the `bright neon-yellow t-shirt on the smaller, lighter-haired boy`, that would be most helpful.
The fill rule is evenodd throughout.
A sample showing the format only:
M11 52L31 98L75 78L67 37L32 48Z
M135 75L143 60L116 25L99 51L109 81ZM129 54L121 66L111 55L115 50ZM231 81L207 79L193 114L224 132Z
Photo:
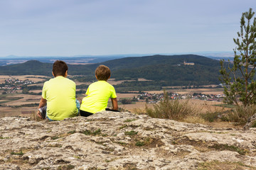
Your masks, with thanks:
M90 113L104 111L107 108L109 98L117 98L114 86L107 81L97 81L90 84L85 94L87 96L82 98L80 110Z

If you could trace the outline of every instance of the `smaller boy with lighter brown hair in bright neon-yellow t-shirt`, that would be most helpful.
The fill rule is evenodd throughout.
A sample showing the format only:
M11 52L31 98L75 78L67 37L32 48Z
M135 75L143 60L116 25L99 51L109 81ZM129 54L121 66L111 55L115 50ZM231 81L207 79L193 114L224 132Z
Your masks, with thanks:
M110 68L105 65L100 65L95 70L95 77L98 81L90 84L85 93L87 96L82 98L80 115L85 117L99 111L105 111L109 98L111 98L112 101L112 111L118 110L117 94L114 90L114 86L107 83L107 80L110 79Z

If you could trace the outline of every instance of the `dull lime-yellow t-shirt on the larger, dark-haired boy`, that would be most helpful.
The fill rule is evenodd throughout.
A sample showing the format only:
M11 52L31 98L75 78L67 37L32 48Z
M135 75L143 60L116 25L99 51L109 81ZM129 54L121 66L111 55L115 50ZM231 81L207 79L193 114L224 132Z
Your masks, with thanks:
M63 120L78 115L75 104L75 82L59 76L43 84L42 97L47 101L47 116Z

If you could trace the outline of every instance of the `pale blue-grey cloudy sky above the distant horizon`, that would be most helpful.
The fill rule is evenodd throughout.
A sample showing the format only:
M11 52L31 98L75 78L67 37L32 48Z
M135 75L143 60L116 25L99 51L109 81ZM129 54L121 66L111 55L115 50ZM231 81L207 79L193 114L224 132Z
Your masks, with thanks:
M233 51L242 13L255 6L255 0L1 0L0 57Z

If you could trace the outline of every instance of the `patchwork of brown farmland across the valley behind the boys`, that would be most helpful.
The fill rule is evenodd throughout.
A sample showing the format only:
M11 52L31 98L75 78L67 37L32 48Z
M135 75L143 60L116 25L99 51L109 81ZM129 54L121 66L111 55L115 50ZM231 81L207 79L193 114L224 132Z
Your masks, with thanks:
M38 75L24 75L24 76L7 76L7 75L1 75L0 76L0 84L4 84L7 79L15 79L16 81L22 81L26 82L29 81L31 84L24 84L22 85L23 89L26 89L28 87L33 86L34 88L37 86L37 89L32 89L27 91L26 94L24 94L24 91L22 89L14 90L14 89L1 89L0 91L0 104L1 104L1 110L0 110L0 118L5 116L14 116L14 115L22 115L26 116L28 113L35 113L38 107L38 103L41 99L41 89L43 86L43 82L50 79L51 77L46 76L38 76ZM69 77L72 78L72 77ZM145 79L139 79L139 81L146 81ZM12 81L15 84L15 81ZM114 81L114 79L110 79L110 84L117 85L121 84L124 81ZM78 82L75 81L77 86L88 86L91 82ZM18 85L19 86L19 85ZM214 86L213 86L214 87ZM29 89L29 88L28 88ZM86 89L77 89L77 91L86 91ZM181 96L189 96L192 94L206 94L206 95L217 95L217 94L223 94L223 89L221 88L210 88L210 89L182 89L182 88L176 88L176 89L169 89L166 90L169 94L180 94ZM142 92L141 92L142 93ZM144 91L145 94L150 95L159 95L163 94L163 91ZM140 111L143 111L146 104L148 106L151 106L152 104L146 103L146 98L138 99L137 101L132 101L132 103L129 104L122 104L122 99L132 99L132 98L138 98L139 91L129 91L129 93L117 93L117 99L119 100L119 108L122 108L124 111L136 111L139 109ZM78 94L77 98L79 101L82 100L82 98L85 97L85 94ZM148 101L154 101L151 98L149 98ZM193 105L196 105L198 107L201 107L201 111L207 112L210 109L215 109L215 105L220 104L221 101L207 101L205 100L198 100L195 98L192 98L190 102Z

